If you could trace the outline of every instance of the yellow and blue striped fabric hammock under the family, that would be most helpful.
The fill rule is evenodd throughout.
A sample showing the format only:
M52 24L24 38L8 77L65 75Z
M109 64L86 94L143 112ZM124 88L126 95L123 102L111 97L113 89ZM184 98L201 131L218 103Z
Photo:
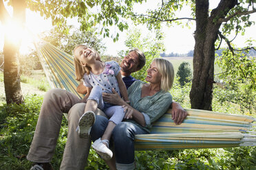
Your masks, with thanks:
M52 88L76 92L74 59L69 54L47 42L35 43L43 70ZM137 150L192 149L239 147L256 145L256 121L253 117L225 114L206 110L186 109L188 117L181 125L175 125L168 110L153 123L151 134L136 135ZM65 114L66 116L66 114Z

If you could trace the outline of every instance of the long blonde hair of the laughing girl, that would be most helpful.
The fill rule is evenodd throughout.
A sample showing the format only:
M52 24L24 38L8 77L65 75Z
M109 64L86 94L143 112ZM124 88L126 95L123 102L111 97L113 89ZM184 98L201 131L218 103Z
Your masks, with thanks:
M85 47L85 48L89 48L87 45L77 45L74 48L74 53L76 51L76 49L78 49L78 47ZM96 60L100 60L100 54L98 53L98 51L96 51L93 48L90 48L92 50L94 50L94 52L96 53ZM90 66L82 66L81 61L78 58L79 56L74 55L74 66L75 66L75 72L76 72L76 80L80 81L83 78L83 75L85 75L85 73L87 73L87 75L89 75L89 72L92 70L92 68Z

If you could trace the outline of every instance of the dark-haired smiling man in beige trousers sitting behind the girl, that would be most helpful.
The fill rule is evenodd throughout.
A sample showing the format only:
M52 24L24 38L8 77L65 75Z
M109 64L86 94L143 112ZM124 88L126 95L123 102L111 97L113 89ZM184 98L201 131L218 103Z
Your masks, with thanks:
M131 73L140 70L144 65L144 53L138 49L129 51L122 60L120 72L127 88L136 81L134 77L131 77ZM85 86L80 84L77 88L78 93L86 93L84 89ZM119 96L115 91L114 94L103 94L103 97L105 101L118 105ZM84 169L91 138L80 138L76 132L78 120L83 115L84 108L85 104L81 103L81 99L66 90L54 88L45 94L34 138L27 156L28 160L34 162L31 169L52 169L50 161L56 147L63 112L68 112L68 133L61 169ZM173 102L172 108L173 120L175 123L181 123L186 117L186 112L176 102ZM96 114L103 113L97 112Z

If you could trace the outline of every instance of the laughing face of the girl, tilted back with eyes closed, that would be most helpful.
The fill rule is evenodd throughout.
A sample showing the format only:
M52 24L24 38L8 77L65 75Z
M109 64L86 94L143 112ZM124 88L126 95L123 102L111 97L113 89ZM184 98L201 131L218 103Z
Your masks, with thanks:
M95 51L86 46L77 47L76 50L74 51L74 56L78 58L82 66L86 66L86 64L95 62L96 60Z

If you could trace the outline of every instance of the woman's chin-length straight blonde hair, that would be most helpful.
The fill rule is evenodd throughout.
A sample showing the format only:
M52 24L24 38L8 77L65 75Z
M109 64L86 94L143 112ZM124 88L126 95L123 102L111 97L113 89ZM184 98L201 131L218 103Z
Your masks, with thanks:
M156 61L156 67L162 75L161 89L168 92L171 90L174 81L173 64L164 58L156 58L153 61Z

